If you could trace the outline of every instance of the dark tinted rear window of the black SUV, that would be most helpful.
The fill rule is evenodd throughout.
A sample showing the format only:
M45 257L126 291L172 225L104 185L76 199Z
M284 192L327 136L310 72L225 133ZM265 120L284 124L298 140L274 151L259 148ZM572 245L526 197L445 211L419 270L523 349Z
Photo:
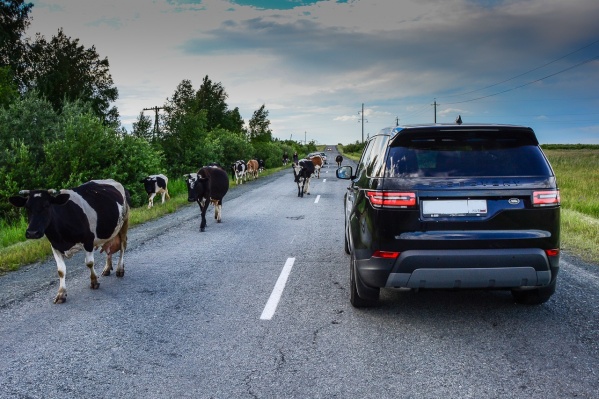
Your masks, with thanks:
M385 177L552 175L537 145L512 135L488 133L448 132L395 140L386 159Z

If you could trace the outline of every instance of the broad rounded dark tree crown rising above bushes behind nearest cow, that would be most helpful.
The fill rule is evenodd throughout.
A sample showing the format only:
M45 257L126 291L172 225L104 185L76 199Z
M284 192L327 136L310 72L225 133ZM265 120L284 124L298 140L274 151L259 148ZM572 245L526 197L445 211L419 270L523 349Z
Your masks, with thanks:
M37 89L57 112L65 102L82 100L91 104L104 124L118 126L119 114L110 103L118 98L108 59L100 59L94 46L86 49L62 29L50 41L40 34L27 52L24 79Z

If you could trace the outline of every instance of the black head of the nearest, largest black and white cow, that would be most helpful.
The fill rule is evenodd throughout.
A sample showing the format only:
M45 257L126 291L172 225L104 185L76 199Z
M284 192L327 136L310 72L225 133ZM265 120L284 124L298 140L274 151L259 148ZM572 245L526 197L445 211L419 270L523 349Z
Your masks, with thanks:
M8 199L8 201L18 208L25 208L27 211L27 238L42 238L46 228L52 222L52 206L61 206L69 201L69 194L54 195L54 190L23 190L18 195Z

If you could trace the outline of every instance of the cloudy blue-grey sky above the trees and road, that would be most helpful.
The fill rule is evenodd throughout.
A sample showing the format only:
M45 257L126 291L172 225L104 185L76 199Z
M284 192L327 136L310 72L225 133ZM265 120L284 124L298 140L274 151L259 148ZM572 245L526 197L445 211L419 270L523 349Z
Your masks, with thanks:
M598 0L31 2L27 36L62 28L108 59L129 132L208 76L246 123L264 105L282 140L349 144L460 115L599 144Z

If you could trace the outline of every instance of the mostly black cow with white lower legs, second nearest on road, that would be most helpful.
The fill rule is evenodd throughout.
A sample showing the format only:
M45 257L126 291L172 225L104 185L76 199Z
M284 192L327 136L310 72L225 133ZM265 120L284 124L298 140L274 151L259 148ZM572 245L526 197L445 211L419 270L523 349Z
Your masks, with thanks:
M204 166L198 173L185 175L187 181L187 201L196 201L200 206L202 222L200 231L206 228L206 210L210 203L214 204L214 218L221 222L223 197L229 190L229 176L218 166Z

